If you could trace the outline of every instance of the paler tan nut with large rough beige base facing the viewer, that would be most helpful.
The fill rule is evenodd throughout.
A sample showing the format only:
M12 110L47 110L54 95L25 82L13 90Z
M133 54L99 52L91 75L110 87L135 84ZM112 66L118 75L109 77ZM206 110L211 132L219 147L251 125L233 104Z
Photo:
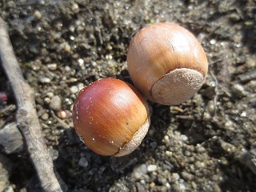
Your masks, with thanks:
M127 53L134 85L152 102L178 105L205 81L208 62L200 42L176 24L159 22L139 30Z

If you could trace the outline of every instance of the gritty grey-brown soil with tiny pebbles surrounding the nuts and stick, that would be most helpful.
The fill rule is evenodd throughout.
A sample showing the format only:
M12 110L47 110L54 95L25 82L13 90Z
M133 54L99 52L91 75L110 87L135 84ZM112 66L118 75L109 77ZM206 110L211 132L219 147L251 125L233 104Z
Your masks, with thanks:
M0 15L69 191L256 191L254 0L2 0ZM134 153L94 154L72 125L78 90L98 78L131 82L130 39L154 22L178 23L202 42L206 82L179 106L149 102L150 131ZM0 91L2 130L15 122L14 95L2 68ZM60 111L66 118L58 118ZM0 152L8 167L5 172L0 166L3 191L41 191L26 146L11 153L1 146Z

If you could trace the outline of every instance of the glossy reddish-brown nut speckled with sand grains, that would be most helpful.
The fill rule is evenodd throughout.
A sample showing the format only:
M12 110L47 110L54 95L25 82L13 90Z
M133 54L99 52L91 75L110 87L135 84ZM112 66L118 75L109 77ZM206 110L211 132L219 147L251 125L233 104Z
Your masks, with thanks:
M123 156L142 142L150 126L149 107L129 83L102 78L78 93L74 128L82 142L97 154Z

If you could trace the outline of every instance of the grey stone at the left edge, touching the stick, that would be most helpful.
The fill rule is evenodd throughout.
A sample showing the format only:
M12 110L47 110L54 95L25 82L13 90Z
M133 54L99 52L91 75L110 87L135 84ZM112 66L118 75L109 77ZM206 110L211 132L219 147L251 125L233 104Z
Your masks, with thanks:
M14 154L23 149L23 138L16 122L11 122L0 129L0 144L6 154Z

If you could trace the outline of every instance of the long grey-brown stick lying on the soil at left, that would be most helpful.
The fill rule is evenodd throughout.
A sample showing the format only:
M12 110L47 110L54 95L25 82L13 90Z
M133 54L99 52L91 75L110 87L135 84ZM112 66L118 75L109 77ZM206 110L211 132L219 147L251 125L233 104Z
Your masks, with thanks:
M0 18L0 58L2 67L6 71L14 90L18 106L16 114L18 128L26 142L27 150L38 173L42 189L47 192L62 191L54 174L54 164L42 135L42 128L35 109L34 91L23 78L22 70L18 66L18 61L10 43L7 28L6 23Z

